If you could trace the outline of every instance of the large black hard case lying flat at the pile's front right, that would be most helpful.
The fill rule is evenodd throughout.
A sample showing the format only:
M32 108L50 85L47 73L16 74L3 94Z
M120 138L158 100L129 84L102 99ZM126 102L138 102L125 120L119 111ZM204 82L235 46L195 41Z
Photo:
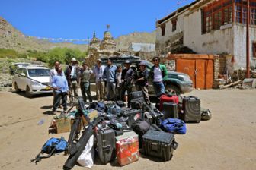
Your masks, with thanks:
M155 156L165 161L171 159L173 151L178 147L174 134L150 130L142 136L142 153Z

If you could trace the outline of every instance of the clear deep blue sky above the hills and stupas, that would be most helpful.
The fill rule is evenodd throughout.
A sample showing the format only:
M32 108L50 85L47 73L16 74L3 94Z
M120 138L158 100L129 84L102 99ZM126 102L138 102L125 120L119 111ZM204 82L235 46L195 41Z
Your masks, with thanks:
M184 6L194 0L180 0ZM110 24L117 38L152 32L155 21L178 8L178 0L1 0L0 16L26 36L102 38Z

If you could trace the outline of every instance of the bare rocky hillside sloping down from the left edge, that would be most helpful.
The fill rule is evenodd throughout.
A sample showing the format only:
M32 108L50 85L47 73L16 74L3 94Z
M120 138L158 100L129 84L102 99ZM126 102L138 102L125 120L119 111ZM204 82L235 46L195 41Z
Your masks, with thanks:
M21 31L9 24L7 20L0 17L0 49L14 49L17 52L26 52L27 50L43 52L55 47L67 47L80 49L81 51L88 49L87 45L78 45L69 42L53 43L47 40L25 36Z

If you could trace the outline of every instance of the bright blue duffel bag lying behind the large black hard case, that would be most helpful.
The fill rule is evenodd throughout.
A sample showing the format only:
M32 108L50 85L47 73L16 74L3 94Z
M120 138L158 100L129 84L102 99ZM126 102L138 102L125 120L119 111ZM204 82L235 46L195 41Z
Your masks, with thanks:
M165 119L165 121L162 121L160 128L173 134L186 134L187 132L186 124L178 118Z

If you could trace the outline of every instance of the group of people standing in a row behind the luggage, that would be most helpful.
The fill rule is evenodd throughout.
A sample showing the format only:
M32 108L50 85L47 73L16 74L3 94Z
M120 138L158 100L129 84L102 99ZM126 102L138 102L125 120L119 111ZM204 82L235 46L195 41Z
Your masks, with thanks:
M136 90L142 91L146 103L149 100L149 79L152 79L152 85L155 90L155 96L161 96L165 93L165 85L163 83L167 70L165 65L160 65L160 58L155 57L152 60L154 66L146 69L146 62L141 61L138 70L131 68L130 61L124 62L123 65L113 65L110 59L107 60L107 66L101 65L101 59L97 60L96 65L91 70L85 61L82 68L78 66L78 61L72 58L70 64L65 71L59 65L59 61L55 62L54 68L50 71L50 84L54 89L53 92L53 114L61 105L64 112L67 110L67 96L70 102L75 102L78 97L78 89L81 89L82 98L86 102L92 102L90 80L94 74L96 83L96 96L98 101L104 100L123 100L130 107L129 94L133 91L133 84Z

